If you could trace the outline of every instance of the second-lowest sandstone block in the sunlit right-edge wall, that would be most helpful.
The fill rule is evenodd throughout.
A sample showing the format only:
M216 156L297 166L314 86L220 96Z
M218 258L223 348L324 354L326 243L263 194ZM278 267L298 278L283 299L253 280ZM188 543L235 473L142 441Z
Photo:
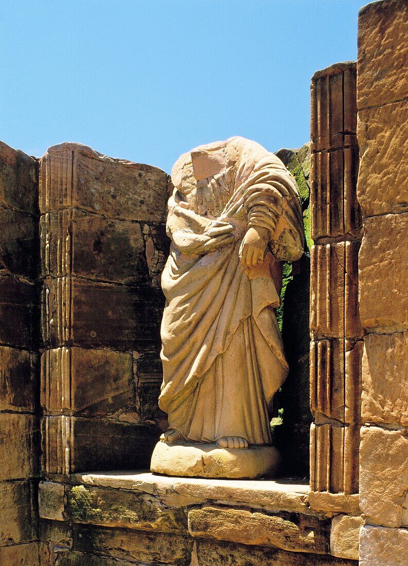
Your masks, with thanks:
M360 507L368 521L408 526L408 436L363 427L360 445Z

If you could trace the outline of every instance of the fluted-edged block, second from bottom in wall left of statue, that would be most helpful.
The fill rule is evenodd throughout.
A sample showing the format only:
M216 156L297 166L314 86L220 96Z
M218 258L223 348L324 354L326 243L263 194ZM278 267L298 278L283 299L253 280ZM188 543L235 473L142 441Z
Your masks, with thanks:
M46 413L82 417L134 413L132 354L56 348L41 357L41 405Z

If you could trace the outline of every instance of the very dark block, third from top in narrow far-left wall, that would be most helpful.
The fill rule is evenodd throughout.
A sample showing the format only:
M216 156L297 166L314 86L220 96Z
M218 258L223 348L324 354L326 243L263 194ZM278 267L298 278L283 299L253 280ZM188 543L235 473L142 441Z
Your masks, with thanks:
M0 344L32 347L38 338L35 286L0 275L0 320Z

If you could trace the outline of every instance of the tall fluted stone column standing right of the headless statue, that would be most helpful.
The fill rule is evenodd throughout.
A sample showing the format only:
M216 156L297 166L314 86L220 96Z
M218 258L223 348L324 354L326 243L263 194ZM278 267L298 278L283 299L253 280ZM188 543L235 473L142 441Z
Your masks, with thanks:
M330 502L350 512L356 504L349 496L358 494L363 348L356 130L355 63L316 72L311 84L311 505L327 508Z

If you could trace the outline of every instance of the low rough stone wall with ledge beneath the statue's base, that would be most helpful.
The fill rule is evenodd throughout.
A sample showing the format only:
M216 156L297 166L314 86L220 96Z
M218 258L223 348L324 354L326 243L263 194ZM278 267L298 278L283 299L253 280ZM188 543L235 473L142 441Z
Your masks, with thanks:
M71 475L40 484L45 564L355 566L332 556L332 514L311 509L295 482L169 478L151 473ZM347 542L356 554L358 528ZM332 529L333 530L333 529Z

